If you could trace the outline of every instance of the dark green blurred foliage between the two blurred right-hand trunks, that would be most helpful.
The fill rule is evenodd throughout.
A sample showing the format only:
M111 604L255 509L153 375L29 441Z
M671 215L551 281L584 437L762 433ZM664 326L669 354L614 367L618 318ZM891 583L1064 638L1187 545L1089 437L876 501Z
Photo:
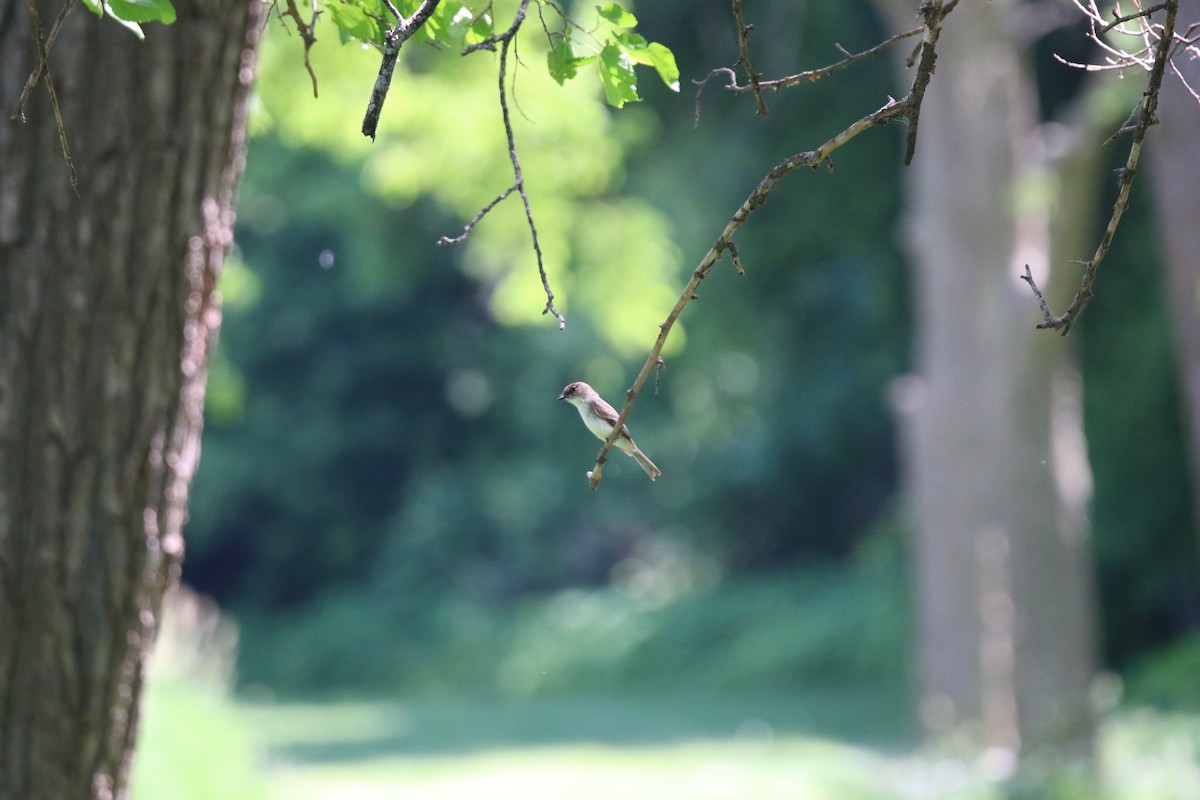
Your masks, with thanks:
M1104 643L1122 668L1194 631L1200 595L1183 396L1151 207L1146 186L1135 185L1079 330Z

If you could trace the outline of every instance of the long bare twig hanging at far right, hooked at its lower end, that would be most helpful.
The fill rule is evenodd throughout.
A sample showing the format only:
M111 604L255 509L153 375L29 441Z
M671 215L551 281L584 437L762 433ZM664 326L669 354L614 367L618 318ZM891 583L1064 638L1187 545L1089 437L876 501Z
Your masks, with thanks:
M1084 312L1084 308L1087 307L1087 302L1094 296L1093 287L1096 284L1096 272L1100 266L1100 261L1103 261L1104 257L1109 253L1109 247L1112 245L1112 237L1116 235L1117 225L1121 224L1121 216L1124 213L1126 209L1129 207L1129 192L1133 188L1134 175L1138 173L1138 160L1141 157L1141 145L1146 138L1146 131L1150 130L1151 125L1157 122L1154 112L1158 108L1158 92L1163 85L1163 74L1166 71L1166 64L1170 59L1175 40L1175 16L1180 7L1178 0L1166 0L1163 5L1166 7L1166 17L1163 20L1162 29L1157 34L1158 44L1154 48L1154 60L1150 67L1150 77L1146 80L1146 90L1142 92L1141 100L1139 101L1140 113L1138 113L1136 125L1133 127L1133 140L1129 144L1129 155L1126 157L1124 167L1116 170L1117 199L1112 204L1112 215L1109 217L1109 224L1105 227L1104 235L1100 236L1100 242L1097 245L1092 258L1086 261L1081 261L1084 265L1084 276L1080 279L1079 289L1075 291L1075 296L1067 307L1067 311L1057 317L1051 314L1050 308L1045 302L1045 296L1033 282L1033 277L1031 275L1028 277L1021 276L1021 278L1030 284L1030 288L1033 289L1033 294L1037 296L1038 303L1042 307L1043 319L1038 323L1039 329L1062 331L1063 336L1070 332L1070 326L1075 324L1075 320ZM1151 24L1147 20L1145 29L1147 31L1147 36L1150 29ZM1028 267L1026 267L1026 273L1028 273Z

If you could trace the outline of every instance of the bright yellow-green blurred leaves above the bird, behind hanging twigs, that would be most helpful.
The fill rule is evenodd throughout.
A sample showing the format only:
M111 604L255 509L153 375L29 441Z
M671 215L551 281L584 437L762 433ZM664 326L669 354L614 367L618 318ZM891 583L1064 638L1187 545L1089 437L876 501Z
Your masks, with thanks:
M263 46L262 104L253 127L274 130L290 146L319 148L353 164L376 203L402 209L424 197L448 212L439 229L408 242L421 246L414 255L431 252L439 235L460 233L467 219L512 185L493 61L409 52L409 61L402 59L397 67L380 136L372 145L346 121L362 115L377 54L356 47L314 49L322 91L313 100L294 79L295 40L280 38L280 32L274 29ZM544 36L530 36L522 48L526 62L542 48L550 52ZM569 325L576 314L589 315L623 354L641 351L673 302L680 260L661 212L616 194L624 180L623 148L653 136L653 128L646 118L611 116L599 82L559 86L538 70L520 65L512 70L521 71L515 136L557 301ZM541 285L518 197L491 211L457 251L468 273L491 287L488 302L498 320L545 323L545 299L539 301ZM574 290L576 281L581 290ZM637 290L622 303L610 302L607 291L583 290L600 281Z

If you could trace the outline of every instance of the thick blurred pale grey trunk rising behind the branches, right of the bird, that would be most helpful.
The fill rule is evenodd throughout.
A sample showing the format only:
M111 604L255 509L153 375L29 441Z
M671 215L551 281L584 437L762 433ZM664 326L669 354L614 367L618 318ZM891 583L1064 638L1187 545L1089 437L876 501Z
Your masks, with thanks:
M887 5L911 25L916 4ZM1090 750L1096 649L1079 380L1019 279L1030 264L1045 285L1050 215L1070 196L1031 191L1052 184L1031 180L1045 149L1014 6L960 4L938 41L907 175L918 374L895 392L920 716L1008 768L1045 746Z

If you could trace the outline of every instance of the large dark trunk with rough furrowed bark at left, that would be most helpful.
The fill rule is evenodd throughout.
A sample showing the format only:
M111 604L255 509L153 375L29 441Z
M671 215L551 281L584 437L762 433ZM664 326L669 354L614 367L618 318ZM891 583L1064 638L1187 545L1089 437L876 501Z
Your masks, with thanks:
M49 31L61 2L38 4ZM77 4L78 5L78 4ZM49 59L0 0L0 800L121 798L199 455L253 73L250 0L138 41L76 8Z

